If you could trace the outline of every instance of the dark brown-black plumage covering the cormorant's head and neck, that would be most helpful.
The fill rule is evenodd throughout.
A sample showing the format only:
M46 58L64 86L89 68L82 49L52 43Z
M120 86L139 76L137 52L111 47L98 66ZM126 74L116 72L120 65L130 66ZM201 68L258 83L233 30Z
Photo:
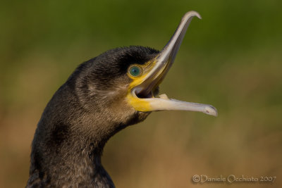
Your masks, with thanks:
M102 167L106 141L148 112L125 104L128 67L159 51L130 46L106 51L78 66L51 98L32 142L27 187L114 187Z

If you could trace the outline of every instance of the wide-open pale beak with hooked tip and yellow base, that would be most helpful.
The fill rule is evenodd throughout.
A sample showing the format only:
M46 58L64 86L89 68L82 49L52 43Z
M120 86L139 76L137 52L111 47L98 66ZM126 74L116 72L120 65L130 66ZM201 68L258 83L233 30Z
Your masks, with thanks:
M200 14L195 11L185 13L176 32L159 55L150 63L149 72L131 85L129 102L137 111L200 111L209 115L217 115L216 108L211 105L168 99L166 94L161 94L159 97L154 96L154 90L164 80L166 73L171 68L188 25L194 16L201 19Z

